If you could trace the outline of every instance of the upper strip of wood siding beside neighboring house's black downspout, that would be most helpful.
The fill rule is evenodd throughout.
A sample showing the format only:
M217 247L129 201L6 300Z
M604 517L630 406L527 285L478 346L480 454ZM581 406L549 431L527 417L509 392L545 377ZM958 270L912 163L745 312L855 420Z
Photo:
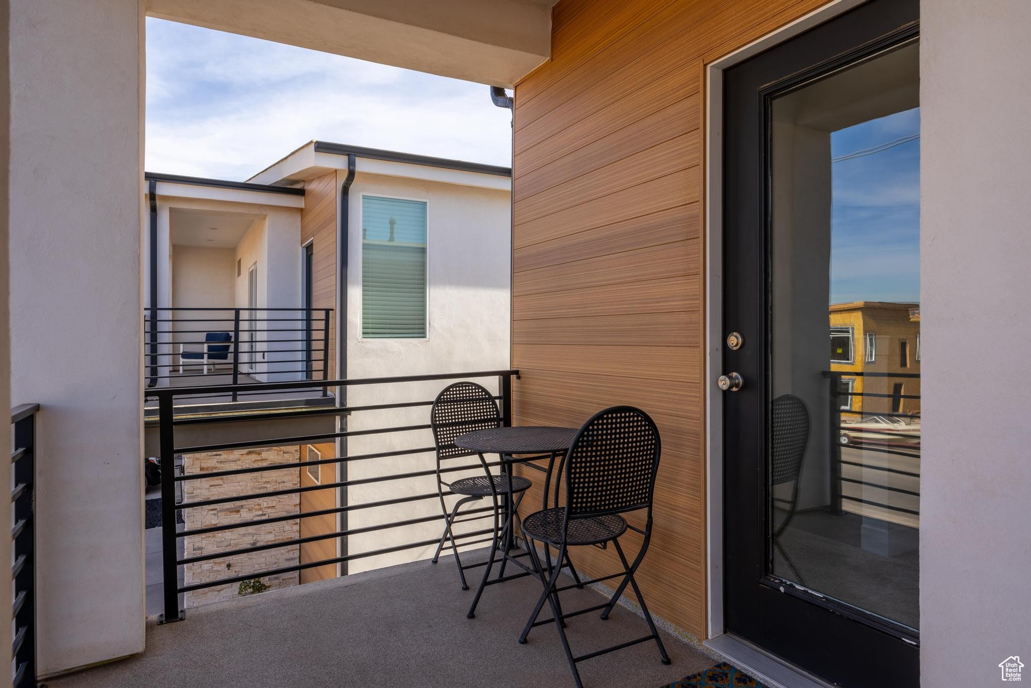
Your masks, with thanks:
M301 245L309 240L312 249L311 303L315 308L336 308L336 172L329 172L304 185L304 208L301 210ZM313 326L314 349L322 347L322 321ZM329 379L336 376L336 314L329 323ZM321 359L321 353L315 359ZM323 363L314 364L314 376L321 378Z

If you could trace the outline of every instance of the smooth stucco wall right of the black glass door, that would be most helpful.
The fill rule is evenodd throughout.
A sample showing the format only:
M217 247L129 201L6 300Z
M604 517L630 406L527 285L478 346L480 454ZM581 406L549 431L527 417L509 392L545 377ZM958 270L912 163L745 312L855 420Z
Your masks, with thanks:
M921 684L1031 655L1031 4L921 3ZM995 374L993 374L995 373ZM1025 657L1025 662L1026 662Z

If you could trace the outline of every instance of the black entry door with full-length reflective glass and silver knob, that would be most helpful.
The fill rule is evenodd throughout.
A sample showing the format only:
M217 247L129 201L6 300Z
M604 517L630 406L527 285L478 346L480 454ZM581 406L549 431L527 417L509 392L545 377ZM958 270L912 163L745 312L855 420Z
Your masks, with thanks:
M918 20L725 72L726 629L845 687L920 676Z

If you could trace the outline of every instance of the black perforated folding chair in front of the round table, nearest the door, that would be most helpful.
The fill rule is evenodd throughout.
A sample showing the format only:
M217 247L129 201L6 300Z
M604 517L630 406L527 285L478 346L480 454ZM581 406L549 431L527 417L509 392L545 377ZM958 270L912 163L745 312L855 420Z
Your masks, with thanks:
M559 632L562 648L565 650L566 659L569 660L569 667L572 669L573 679L578 688L583 684L579 673L576 670L577 662L638 643L654 640L659 646L662 662L664 664L670 663L669 655L666 654L662 638L659 636L659 631L656 630L652 615L644 604L644 597L634 579L634 574L644 559L648 543L652 539L652 495L655 490L655 477L659 469L661 450L659 429L643 411L633 406L613 406L595 414L580 428L566 455L564 466L565 506L536 512L527 516L523 521L524 537L527 538L529 545L527 549L534 557L535 565L539 571L543 571L544 568L541 566L533 542L539 542L545 547L547 545L558 547L557 561L559 562L564 560L570 547L604 546L607 543L612 543L620 561L623 563L621 574L595 579L595 581L601 581L623 577L623 581L607 602L563 614L562 605L559 602L559 592L577 586L574 584L558 587L561 567L552 566L551 561L548 561L546 567L550 572L547 576L541 576L544 590L523 629L523 634L520 635L519 642L526 643L531 628L558 620L559 623L556 623L555 627ZM647 511L643 529L628 524L627 520L621 516L621 514L641 510ZM628 528L644 537L641 549L632 564L627 561L619 539ZM595 581L585 581L584 583L589 584ZM563 629L565 620L598 610L603 610L601 618L607 619L628 583L633 586L634 594L637 595L637 602L644 614L644 620L647 622L651 634L604 650L573 656L569 648L569 641L566 638L566 632ZM537 621L545 601L551 605L552 618Z

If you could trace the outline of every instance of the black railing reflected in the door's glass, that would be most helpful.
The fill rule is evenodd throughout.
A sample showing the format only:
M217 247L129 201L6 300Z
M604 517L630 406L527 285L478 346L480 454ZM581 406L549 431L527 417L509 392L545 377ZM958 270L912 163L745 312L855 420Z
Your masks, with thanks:
M831 511L832 513L841 512L841 502L852 501L859 504L866 504L869 506L876 506L879 509L885 509L890 512L896 512L898 514L906 514L909 516L920 516L919 509L908 509L906 506L901 506L897 503L889 503L888 500L883 499L868 499L865 496L853 496L842 494L842 484L854 484L860 485L862 487L876 488L878 490L884 490L891 494L900 494L920 497L919 490L910 490L905 487L899 487L898 485L888 485L886 480L891 480L894 477L901 476L903 478L914 478L919 481L920 472L913 471L909 468L911 466L906 465L877 465L867 461L856 461L852 459L844 459L841 456L841 451L845 447L853 445L854 439L852 437L852 432L854 428L849 426L849 422L844 420L843 416L849 415L850 417L855 417L851 420L861 421L863 418L869 417L883 417L883 418L897 418L905 419L907 421L913 421L920 418L919 412L902 413L901 411L879 411L874 408L868 408L866 403L862 404L862 408L854 409L853 405L854 399L890 399L892 404L898 404L901 406L903 400L920 400L919 394L901 394L901 393L888 393L888 392L871 392L867 391L865 388L861 392L854 391L852 387L844 388L842 386L842 381L845 380L858 380L860 378L867 380L883 380L883 379L898 379L898 380L920 380L919 372L867 372L867 371L846 371L846 370L825 370L824 376L829 383L829 394L830 399L829 413L830 413L830 423L828 424L829 431L829 443L830 443L830 495L831 495ZM846 403L842 403L842 400L846 399ZM904 460L905 458L920 458L920 427L906 426L900 424L897 428L877 429L875 427L864 426L858 432L859 434L865 435L868 438L860 440L857 447L861 449L864 453L879 454L888 457L899 457L895 463ZM844 439L847 438L847 439ZM845 478L842 476L841 467L854 466L860 468L860 478ZM886 480L866 480L863 476L863 471L872 470L883 473ZM919 485L919 483L918 483Z

